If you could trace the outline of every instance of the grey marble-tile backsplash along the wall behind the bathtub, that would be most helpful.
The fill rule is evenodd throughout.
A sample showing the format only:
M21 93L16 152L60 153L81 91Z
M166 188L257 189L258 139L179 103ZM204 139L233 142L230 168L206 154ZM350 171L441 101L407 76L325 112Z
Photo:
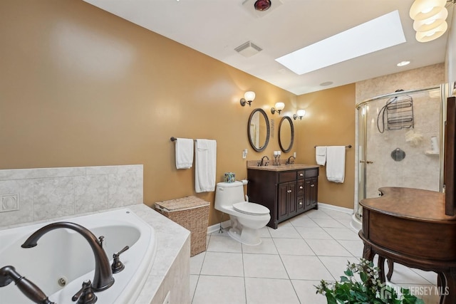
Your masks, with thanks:
M0 227L142 204L142 164L0 170Z

